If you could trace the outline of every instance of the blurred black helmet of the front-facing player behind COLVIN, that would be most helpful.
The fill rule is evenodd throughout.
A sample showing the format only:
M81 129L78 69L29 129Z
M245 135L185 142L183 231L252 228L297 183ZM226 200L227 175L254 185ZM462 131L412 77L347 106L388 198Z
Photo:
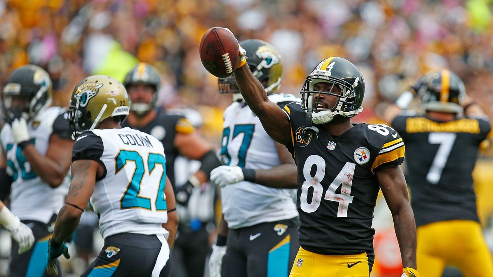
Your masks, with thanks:
M144 114L156 106L158 97L156 92L161 87L161 77L153 66L147 63L139 63L127 73L123 85L128 90L130 86L139 84L150 85L154 88L154 97L149 103L132 102L132 106L130 107L137 114Z

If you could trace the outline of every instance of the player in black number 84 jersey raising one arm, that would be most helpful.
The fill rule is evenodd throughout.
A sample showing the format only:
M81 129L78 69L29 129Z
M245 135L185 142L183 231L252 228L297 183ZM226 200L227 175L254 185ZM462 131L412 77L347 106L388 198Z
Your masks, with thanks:
M386 125L352 124L362 110L364 81L348 60L321 61L307 77L302 103L281 109L268 100L240 49L240 91L267 133L298 166L300 249L290 276L369 276L373 208L382 188L399 241L403 276L417 276L416 226L398 165L404 144Z

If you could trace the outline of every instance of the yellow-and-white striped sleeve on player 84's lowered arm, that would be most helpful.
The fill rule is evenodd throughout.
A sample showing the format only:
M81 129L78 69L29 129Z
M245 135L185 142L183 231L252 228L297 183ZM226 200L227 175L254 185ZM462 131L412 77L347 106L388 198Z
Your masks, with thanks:
M371 172L377 172L384 166L398 166L404 162L404 141L400 137L399 133L396 130L386 126L379 125L385 127L385 130L382 131L383 134L387 134L387 139L384 144L378 148L378 153L375 159L373 160L373 164L371 167Z

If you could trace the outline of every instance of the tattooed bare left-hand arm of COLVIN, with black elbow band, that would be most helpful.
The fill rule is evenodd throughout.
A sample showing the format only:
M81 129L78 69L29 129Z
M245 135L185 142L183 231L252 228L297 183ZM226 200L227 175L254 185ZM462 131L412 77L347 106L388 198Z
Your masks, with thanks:
M72 163L71 171L73 179L69 195L58 212L53 231L52 240L58 243L65 242L79 225L80 216L94 191L96 176L103 174L103 167L93 160L76 160Z

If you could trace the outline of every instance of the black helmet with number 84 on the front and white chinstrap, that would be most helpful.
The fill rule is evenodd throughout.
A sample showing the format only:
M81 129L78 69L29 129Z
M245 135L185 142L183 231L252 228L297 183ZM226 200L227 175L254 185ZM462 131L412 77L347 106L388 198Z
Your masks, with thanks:
M320 82L332 84L330 91L314 91L314 85ZM341 88L341 94L332 93L334 86ZM339 99L330 108L319 108L313 103L315 94L328 94ZM330 122L334 116L353 117L363 110L361 104L365 94L363 75L350 61L340 57L330 57L320 63L308 75L301 88L301 107L312 113L315 124Z

